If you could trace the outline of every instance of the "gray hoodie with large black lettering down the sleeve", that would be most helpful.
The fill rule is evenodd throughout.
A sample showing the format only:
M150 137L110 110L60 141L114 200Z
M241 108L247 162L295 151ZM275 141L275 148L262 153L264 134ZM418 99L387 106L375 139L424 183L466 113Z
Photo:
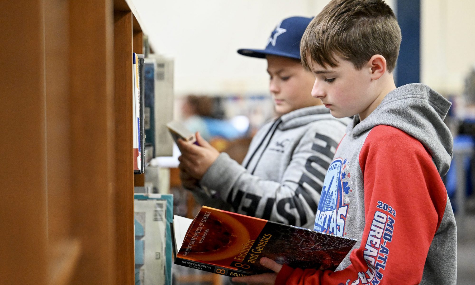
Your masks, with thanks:
M201 204L313 228L323 179L351 120L324 106L295 110L264 125L240 165L221 153L193 191ZM211 193L211 196L209 194Z

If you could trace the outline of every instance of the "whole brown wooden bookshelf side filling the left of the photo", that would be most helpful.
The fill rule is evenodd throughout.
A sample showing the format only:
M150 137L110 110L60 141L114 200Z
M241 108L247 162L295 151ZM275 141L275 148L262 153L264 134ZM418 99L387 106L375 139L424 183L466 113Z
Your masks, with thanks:
M133 285L130 0L0 1L0 280Z

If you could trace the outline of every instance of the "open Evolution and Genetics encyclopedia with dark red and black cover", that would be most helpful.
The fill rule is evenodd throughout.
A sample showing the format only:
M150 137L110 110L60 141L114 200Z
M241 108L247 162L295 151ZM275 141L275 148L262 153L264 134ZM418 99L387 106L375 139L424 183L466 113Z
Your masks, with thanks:
M175 264L226 275L272 272L268 257L299 268L335 270L356 240L203 206L194 219L173 218Z

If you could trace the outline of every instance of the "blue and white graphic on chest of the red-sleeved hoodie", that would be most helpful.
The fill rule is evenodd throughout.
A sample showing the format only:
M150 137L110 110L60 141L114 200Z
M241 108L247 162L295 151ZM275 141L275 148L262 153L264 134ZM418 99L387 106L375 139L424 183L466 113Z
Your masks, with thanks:
M350 173L345 172L347 160L335 158L328 168L323 181L322 195L318 204L315 217L314 230L342 237L345 233L346 216L349 204L343 198L348 194L350 186L348 181Z

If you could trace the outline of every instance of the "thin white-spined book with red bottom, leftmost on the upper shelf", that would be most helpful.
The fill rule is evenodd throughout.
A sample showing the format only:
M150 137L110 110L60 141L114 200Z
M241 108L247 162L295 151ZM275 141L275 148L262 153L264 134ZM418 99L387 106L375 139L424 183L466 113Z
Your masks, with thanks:
M139 57L133 53L133 173L142 173L142 153L140 141L140 81Z

